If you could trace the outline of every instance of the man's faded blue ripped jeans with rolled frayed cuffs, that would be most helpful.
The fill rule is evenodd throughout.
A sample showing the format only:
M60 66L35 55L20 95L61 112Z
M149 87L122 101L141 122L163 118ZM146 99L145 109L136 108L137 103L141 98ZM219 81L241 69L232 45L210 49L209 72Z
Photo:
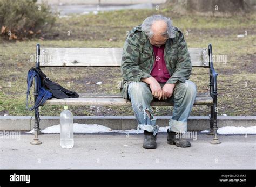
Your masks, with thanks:
M161 87L165 85L165 83L159 84ZM165 102L174 103L172 119L169 120L169 131L178 133L187 131L187 118L190 116L196 93L196 85L190 80L178 83L174 87L172 96L165 100ZM131 82L128 87L128 95L138 122L138 129L153 132L156 135L159 126L156 125L150 103L152 100L157 101L158 99L153 97L149 84Z

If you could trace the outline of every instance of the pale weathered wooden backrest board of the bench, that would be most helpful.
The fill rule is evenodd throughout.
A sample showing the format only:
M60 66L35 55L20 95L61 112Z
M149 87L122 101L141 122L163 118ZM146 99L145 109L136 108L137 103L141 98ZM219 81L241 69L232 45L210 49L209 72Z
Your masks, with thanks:
M123 48L41 48L40 66L119 67ZM193 67L208 67L208 49L190 48Z

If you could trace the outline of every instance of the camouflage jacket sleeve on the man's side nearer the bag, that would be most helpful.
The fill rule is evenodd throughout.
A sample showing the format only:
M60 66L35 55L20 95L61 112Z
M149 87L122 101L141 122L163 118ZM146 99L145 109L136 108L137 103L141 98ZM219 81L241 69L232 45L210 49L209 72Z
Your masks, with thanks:
M127 81L140 81L141 78L149 78L150 74L139 68L139 36L137 33L129 34L125 40L121 74Z

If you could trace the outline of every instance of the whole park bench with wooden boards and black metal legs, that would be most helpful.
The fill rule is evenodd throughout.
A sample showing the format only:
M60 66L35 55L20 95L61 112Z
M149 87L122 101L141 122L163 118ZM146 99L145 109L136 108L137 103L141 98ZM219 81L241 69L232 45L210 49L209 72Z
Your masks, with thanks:
M120 67L122 58L122 48L41 48L37 44L36 52L36 67ZM217 138L217 75L213 68L212 62L212 46L208 45L205 48L190 48L188 49L191 56L192 67L203 67L209 69L210 76L210 92L198 93L194 105L210 106L210 132L214 135L212 144L218 144L220 141ZM42 61L41 63L39 61ZM36 81L35 81L36 82ZM38 90L35 87L35 99L38 95ZM106 94L87 94L79 93L79 98L56 99L52 98L45 102L45 105L75 105L75 106L90 106L90 105L131 105L130 102L119 95ZM152 102L152 106L170 106L173 104L157 101ZM38 109L35 109L38 110ZM38 133L39 120L35 115L35 138L32 144L40 144Z

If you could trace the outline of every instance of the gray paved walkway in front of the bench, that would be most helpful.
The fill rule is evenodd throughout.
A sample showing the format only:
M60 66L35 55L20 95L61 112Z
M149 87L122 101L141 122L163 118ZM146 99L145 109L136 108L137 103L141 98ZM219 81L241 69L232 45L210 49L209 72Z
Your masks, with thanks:
M197 134L192 147L167 145L158 134L158 148L142 148L143 135L75 134L75 146L62 149L59 134L44 134L42 145L30 145L33 135L0 140L0 169L255 169L255 135Z

